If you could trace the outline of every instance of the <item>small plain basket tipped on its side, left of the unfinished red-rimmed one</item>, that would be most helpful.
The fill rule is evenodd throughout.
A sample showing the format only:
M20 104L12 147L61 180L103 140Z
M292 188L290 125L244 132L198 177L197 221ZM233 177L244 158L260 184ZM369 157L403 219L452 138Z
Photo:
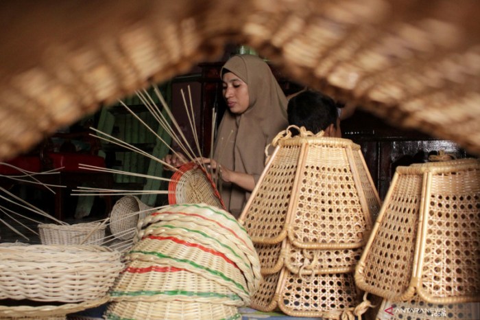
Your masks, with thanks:
M136 196L123 196L110 213L110 231L117 239L128 240L134 237L139 219L152 214L152 207L145 205Z

